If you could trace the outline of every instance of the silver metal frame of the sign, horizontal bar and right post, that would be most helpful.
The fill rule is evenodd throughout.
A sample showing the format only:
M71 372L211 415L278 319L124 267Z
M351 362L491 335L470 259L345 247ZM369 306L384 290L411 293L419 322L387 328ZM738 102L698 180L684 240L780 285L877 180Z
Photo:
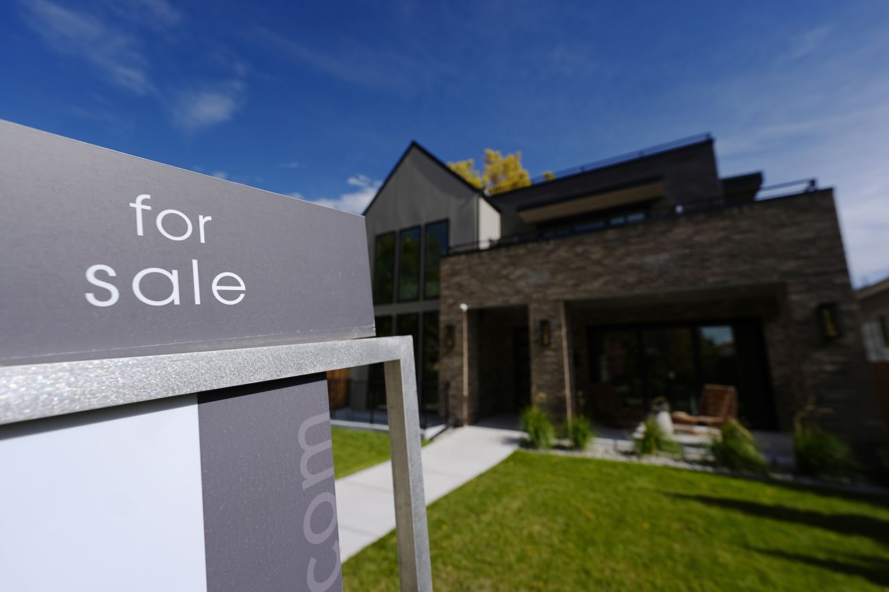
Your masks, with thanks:
M386 371L401 589L427 592L432 570L410 336L3 366L0 425L377 363Z

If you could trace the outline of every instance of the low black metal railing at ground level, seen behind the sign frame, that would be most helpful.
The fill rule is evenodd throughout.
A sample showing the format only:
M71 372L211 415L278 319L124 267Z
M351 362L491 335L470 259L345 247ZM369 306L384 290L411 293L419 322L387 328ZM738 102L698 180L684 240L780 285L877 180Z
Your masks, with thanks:
M418 386L420 428L447 425L448 383L423 382ZM383 380L328 379L327 395L332 420L388 425Z

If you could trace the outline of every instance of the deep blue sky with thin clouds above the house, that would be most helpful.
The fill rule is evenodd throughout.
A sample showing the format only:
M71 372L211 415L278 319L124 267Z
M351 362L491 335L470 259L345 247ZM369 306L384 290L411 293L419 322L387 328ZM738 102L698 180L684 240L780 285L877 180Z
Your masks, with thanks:
M837 189L889 274L889 3L168 2L0 7L0 117L360 210L410 140L537 175L697 132L722 174Z

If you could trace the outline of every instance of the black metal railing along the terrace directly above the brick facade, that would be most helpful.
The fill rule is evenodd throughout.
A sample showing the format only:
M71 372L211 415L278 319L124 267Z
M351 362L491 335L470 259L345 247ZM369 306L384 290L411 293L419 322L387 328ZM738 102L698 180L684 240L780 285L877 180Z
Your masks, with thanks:
M797 190L788 191L789 188ZM802 188L800 190L799 188ZM596 219L577 220L572 226L565 225L559 228L539 228L534 232L503 236L497 239L485 239L472 243L452 244L445 256L459 255L462 253L485 251L498 247L511 246L513 244L533 243L535 241L561 238L563 236L585 235L598 232L607 228L632 226L651 220L666 220L699 212L714 212L726 210L739 205L757 204L765 201L773 201L782 197L798 196L801 193L817 191L818 187L814 179L779 183L760 188L752 202L731 203L726 202L723 196L693 199L679 204L654 205L645 211L631 212L629 214L604 215Z

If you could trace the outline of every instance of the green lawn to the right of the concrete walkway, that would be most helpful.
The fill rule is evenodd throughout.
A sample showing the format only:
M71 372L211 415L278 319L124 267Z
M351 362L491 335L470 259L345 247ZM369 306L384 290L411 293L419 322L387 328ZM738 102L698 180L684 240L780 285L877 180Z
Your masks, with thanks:
M436 590L889 586L889 498L516 452L428 511ZM397 589L395 534L343 566Z

